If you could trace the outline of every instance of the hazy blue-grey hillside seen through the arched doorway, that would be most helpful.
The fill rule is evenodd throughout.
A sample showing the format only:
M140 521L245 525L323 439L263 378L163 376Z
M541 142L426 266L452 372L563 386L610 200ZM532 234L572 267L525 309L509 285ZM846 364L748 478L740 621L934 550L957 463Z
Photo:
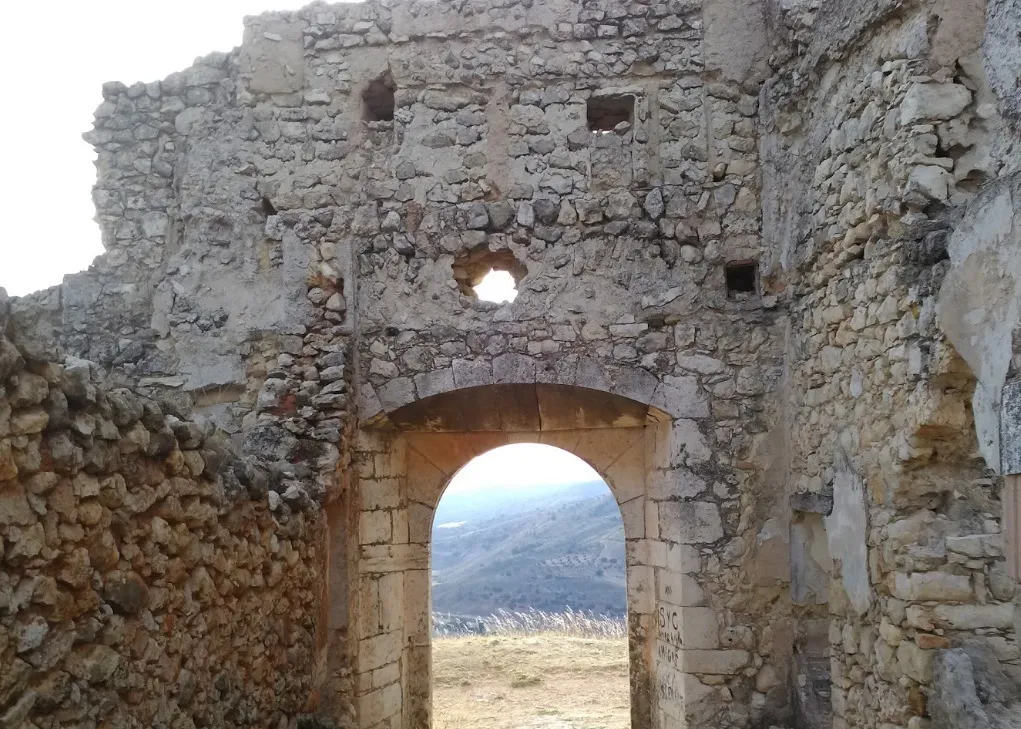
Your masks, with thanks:
M626 612L624 525L602 483L524 498L520 491L448 494L435 525L435 612Z

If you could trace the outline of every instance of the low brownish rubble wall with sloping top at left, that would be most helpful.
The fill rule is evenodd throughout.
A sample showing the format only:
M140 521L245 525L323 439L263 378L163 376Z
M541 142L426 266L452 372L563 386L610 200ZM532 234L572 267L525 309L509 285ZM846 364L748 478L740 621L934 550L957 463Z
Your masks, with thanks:
M0 289L0 725L286 725L322 519L275 519L207 421L34 357L8 314Z

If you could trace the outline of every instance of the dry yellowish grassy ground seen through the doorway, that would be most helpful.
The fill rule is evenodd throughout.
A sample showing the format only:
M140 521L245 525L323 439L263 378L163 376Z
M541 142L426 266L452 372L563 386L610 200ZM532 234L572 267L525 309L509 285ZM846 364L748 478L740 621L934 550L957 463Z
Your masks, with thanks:
M434 729L628 729L624 638L433 639Z

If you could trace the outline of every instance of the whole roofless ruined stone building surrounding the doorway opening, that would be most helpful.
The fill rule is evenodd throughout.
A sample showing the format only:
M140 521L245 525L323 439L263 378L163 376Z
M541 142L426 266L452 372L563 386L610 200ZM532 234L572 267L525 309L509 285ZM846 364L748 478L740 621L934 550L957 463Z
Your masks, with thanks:
M0 298L0 727L427 729L523 440L620 503L634 729L1018 727L1019 34L371 0L106 85L106 253Z

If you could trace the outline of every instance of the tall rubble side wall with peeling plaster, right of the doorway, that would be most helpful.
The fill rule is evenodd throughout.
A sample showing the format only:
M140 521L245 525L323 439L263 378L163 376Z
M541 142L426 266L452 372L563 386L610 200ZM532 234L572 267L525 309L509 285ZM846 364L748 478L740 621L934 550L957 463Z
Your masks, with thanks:
M959 726L946 649L1008 685L1021 673L1001 539L1010 335L984 343L1016 325L1016 284L975 276L965 259L983 244L958 223L1014 163L983 4L876 5L778 15L799 78L778 75L764 97L764 185L786 188L765 231L791 287L788 488L796 519L825 515L799 548L823 537L833 560L829 584L803 565L815 593L797 606L795 669L811 682L827 638L834 726ZM990 716L1016 700L989 696Z

